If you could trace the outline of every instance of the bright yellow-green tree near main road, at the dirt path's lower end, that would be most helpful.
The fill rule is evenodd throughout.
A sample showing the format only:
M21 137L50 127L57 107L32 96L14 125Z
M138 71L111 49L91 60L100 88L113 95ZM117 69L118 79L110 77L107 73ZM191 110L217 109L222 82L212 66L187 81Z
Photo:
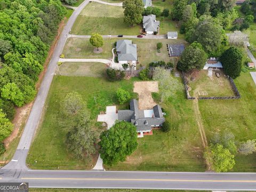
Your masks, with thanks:
M211 144L210 147L206 148L204 156L215 172L227 172L233 169L235 165L235 156L220 144Z

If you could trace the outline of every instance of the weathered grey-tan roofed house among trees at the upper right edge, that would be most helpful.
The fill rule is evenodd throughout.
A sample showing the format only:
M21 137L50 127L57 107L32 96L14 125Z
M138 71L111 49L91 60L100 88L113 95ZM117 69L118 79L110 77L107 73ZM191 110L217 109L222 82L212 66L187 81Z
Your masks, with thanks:
M229 40L230 44L244 45L246 47L249 44L249 37L248 37L248 35L242 33L241 31L234 31L234 33L228 33L226 35L228 36L228 40Z

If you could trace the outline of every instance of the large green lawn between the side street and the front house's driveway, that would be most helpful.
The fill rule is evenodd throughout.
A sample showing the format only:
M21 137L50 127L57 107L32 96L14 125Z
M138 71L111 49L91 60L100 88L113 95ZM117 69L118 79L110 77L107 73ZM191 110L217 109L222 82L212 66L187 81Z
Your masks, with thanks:
M100 134L105 129L102 123L96 123L100 111L106 111L106 106L117 105L115 92L119 87L132 92L133 81L109 82L105 77L68 77L55 76L45 104L44 116L39 125L33 145L30 148L27 164L31 169L63 169L63 170L90 170L93 161L83 159L78 161L66 146L68 129L63 126L60 114L60 102L67 93L76 91L82 95L90 111L94 129ZM136 98L137 94L133 94ZM118 106L127 108L127 103Z

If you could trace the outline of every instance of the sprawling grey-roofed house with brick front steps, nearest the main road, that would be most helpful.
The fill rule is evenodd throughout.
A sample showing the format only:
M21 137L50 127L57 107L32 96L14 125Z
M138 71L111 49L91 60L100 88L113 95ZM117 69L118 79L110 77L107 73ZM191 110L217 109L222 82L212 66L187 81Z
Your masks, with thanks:
M165 122L161 106L156 105L150 110L139 110L138 101L130 101L130 110L118 110L118 120L131 122L137 127L138 137L153 134Z

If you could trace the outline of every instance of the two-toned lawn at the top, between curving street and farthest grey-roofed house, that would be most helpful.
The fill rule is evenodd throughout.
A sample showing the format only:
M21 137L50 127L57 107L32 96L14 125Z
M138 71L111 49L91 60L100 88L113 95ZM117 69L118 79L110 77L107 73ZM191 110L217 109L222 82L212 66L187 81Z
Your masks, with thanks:
M124 22L124 10L119 6L105 5L97 2L88 4L78 15L72 34L91 35L138 35L141 26L130 27Z

